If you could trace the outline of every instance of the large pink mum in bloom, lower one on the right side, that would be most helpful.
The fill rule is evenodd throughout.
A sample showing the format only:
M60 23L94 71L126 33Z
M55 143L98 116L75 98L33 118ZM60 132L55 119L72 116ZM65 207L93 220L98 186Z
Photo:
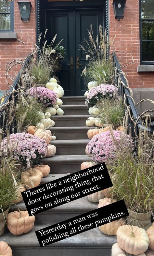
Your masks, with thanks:
M88 143L88 154L92 155L92 161L102 163L116 158L117 146L126 147L131 143L131 137L122 131L105 131L95 135Z

